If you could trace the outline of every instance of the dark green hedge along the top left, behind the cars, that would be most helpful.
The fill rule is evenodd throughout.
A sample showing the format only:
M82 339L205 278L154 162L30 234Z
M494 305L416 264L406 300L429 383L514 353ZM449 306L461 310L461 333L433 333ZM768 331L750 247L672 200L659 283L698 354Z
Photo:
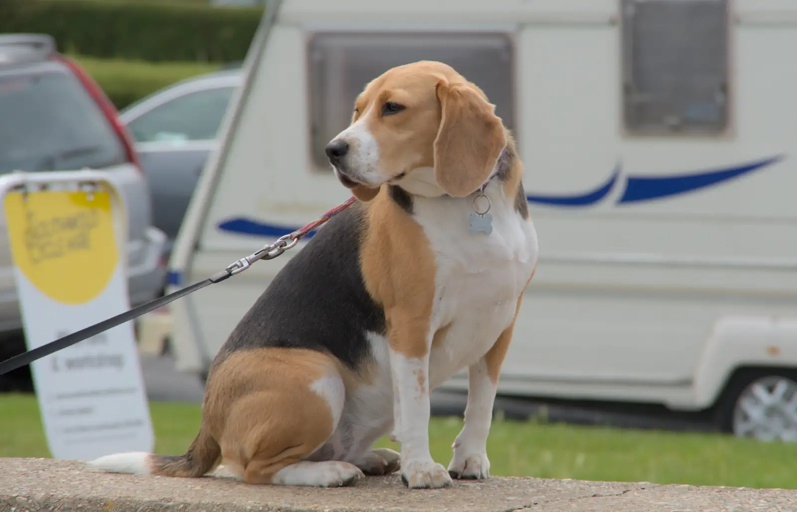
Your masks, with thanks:
M64 53L140 61L241 61L263 10L186 2L0 0L0 33L49 33Z

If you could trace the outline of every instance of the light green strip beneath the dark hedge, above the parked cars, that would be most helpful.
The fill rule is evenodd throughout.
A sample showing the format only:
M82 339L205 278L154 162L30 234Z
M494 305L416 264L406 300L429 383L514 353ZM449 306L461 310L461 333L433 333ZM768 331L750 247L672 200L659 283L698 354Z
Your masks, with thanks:
M120 110L167 85L202 73L210 73L220 67L218 64L198 62L154 63L97 59L82 55L69 57L94 78Z

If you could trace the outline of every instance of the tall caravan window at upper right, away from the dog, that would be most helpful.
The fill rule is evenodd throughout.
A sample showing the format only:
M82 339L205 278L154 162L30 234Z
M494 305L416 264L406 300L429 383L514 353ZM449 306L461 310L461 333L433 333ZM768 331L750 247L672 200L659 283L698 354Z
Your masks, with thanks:
M626 130L714 134L728 124L728 0L622 0Z

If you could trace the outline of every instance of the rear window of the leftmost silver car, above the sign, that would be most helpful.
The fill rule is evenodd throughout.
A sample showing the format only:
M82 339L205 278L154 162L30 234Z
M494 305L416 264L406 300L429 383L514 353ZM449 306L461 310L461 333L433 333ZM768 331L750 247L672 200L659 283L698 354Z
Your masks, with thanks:
M124 145L70 73L0 76L0 173L124 163Z

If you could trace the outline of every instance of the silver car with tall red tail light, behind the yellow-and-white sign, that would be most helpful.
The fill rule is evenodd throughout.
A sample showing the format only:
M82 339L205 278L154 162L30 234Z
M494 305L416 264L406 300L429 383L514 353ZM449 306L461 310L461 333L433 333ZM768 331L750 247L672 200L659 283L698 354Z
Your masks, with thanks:
M132 305L163 293L166 236L151 223L147 179L132 140L100 87L57 53L52 37L0 35L0 173L108 172L128 219L128 286ZM6 233L0 233L0 358L25 349Z

